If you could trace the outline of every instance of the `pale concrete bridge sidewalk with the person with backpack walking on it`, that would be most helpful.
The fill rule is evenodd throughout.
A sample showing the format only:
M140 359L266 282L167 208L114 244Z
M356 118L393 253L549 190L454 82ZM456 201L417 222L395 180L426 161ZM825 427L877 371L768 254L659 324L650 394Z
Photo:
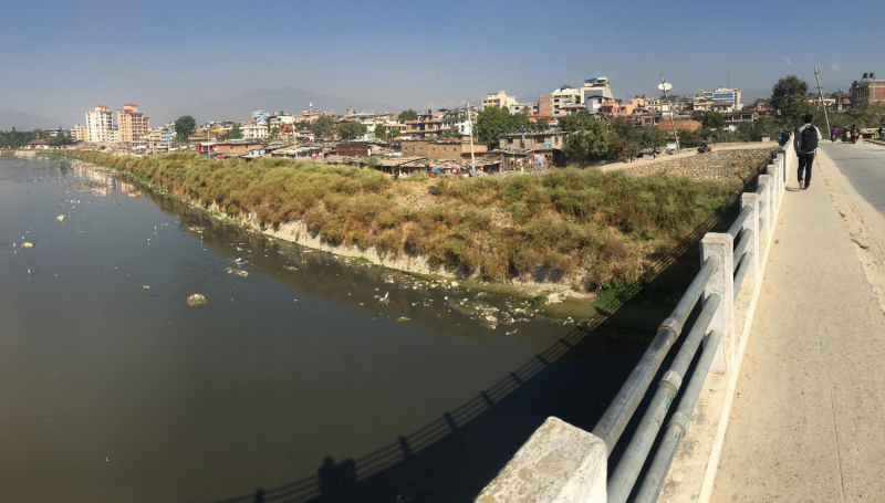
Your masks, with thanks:
M712 502L885 501L885 314L820 163L788 174Z

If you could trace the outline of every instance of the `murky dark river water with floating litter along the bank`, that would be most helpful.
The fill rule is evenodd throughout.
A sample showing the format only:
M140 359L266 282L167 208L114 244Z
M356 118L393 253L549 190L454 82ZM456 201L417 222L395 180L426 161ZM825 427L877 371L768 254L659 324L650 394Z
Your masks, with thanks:
M0 501L468 502L648 343L10 157L0 319Z

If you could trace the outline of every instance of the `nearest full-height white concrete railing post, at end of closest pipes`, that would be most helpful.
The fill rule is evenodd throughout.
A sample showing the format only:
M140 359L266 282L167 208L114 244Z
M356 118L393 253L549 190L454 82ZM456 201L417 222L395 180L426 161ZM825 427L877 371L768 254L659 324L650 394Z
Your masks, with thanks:
M700 263L708 258L716 255L719 258L719 266L707 282L704 289L701 305L706 305L711 295L720 295L721 302L710 321L710 331L720 331L722 338L719 342L719 349L716 352L711 373L725 374L731 371L735 365L736 338L735 338L735 239L731 234L720 234L708 232L700 241ZM707 345L707 339L704 339Z

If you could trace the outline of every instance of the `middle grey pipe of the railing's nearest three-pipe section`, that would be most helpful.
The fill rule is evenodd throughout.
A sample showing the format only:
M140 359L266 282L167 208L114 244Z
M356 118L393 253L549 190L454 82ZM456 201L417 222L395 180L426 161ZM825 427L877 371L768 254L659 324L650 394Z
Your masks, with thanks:
M712 294L707 298L707 303L698 315L695 325L686 336L683 347L673 360L669 370L664 374L664 378L658 383L657 391L655 391L652 404L645 410L636 432L627 446L626 451L621 457L621 460L615 468L614 473L608 479L608 503L624 503L627 501L636 479L648 458L648 452L655 443L658 431L667 417L667 410L673 404L674 397L679 391L683 385L683 377L688 371L691 360L695 359L700 342L707 334L712 321L716 310L719 308L719 303L722 297L719 294Z

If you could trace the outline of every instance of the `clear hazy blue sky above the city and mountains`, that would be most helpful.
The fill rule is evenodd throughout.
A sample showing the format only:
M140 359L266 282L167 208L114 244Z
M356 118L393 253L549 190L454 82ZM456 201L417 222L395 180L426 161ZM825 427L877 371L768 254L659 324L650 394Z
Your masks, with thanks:
M769 94L790 73L813 83L814 66L824 92L885 78L885 1L839 4L2 0L0 109L73 124L98 103L165 115L287 85L427 108L595 76L615 97L654 95L660 72L678 94Z

